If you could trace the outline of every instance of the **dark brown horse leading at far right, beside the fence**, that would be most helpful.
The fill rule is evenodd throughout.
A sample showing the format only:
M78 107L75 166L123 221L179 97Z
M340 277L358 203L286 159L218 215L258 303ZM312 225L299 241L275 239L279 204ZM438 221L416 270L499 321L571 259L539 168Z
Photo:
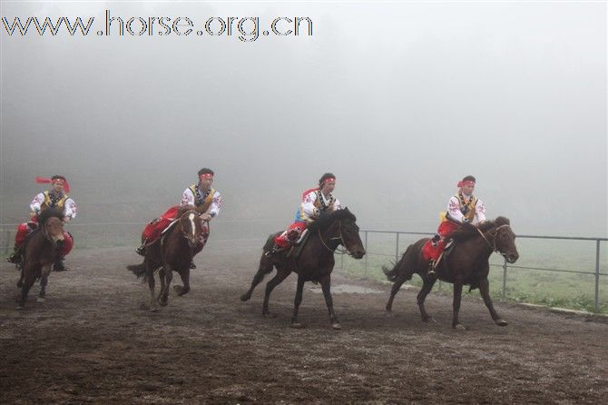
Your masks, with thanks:
M428 292L433 289L436 278L438 278L443 282L454 284L453 328L457 330L466 329L458 321L462 288L465 284L470 286L469 291L479 289L485 306L490 311L492 320L495 321L496 325L506 326L507 322L500 318L494 309L490 298L487 275L490 269L488 259L493 252L502 254L506 262L509 263L514 263L519 258L511 222L507 218L499 216L495 221L483 222L479 226L464 223L460 229L452 232L448 237L453 239L454 245L451 247L451 252L440 259L436 268L436 277L427 277L428 262L422 256L422 247L428 241L428 238L420 239L409 245L392 270L389 271L387 267L383 267L388 281L394 282L386 310L388 312L392 311L393 300L401 284L410 280L416 272L424 282L417 295L417 304L422 315L422 321L433 321L425 310L425 298Z

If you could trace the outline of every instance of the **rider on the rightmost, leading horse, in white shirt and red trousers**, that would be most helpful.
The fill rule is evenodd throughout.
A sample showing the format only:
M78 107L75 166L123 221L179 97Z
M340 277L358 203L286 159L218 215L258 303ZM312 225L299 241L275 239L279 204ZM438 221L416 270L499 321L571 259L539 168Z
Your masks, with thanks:
M447 235L460 228L462 223L477 224L485 221L485 205L473 195L475 184L476 179L473 176L466 176L458 182L458 193L447 203L447 212L441 212L441 222L436 235L422 248L424 257L430 259L428 276L436 276L436 263L447 247Z

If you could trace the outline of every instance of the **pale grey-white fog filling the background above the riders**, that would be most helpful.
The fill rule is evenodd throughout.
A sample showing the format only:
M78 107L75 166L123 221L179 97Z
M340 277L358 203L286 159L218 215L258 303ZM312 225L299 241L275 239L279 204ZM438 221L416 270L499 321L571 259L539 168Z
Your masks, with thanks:
M105 10L195 30L301 16L312 35L96 35ZM35 176L67 177L76 222L143 223L211 167L216 229L287 226L332 172L362 228L434 231L472 174L515 232L608 234L605 3L3 3L2 16L95 17L86 36L0 27L2 223L25 220Z

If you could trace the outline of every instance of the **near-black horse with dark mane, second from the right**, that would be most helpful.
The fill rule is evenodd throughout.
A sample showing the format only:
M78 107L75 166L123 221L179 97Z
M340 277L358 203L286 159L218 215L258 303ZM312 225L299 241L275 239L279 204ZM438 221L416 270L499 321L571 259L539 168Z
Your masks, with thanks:
M277 269L277 274L266 284L262 306L262 315L273 317L274 315L268 309L270 292L285 280L291 272L296 272L298 274L298 288L294 301L293 316L291 317L291 327L303 327L298 321L298 311L299 304L302 301L304 282L319 282L323 290L325 303L328 306L329 321L334 329L341 329L334 311L330 291L331 271L335 264L334 252L341 244L352 257L361 259L365 255L365 249L358 231L357 218L348 211L348 208L322 214L316 222L309 225L309 239L297 255L298 257L290 257L289 249L268 255L267 252L270 252L274 244L274 238L281 232L271 234L263 248L260 268L253 276L249 291L240 296L240 301L248 301L256 285L262 281L266 274L272 272L274 267Z

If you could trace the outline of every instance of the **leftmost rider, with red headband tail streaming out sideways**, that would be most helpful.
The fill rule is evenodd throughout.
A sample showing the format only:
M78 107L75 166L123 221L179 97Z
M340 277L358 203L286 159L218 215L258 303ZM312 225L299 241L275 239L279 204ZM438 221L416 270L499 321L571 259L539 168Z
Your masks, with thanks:
M64 222L70 222L76 217L76 211L78 207L74 200L68 197L67 193L70 193L70 184L67 183L64 176L54 175L50 179L44 177L36 177L36 183L51 183L51 189L46 190L43 193L38 193L30 203L30 209L32 210L30 221L23 222L17 226L17 232L15 234L15 250L8 258L7 262L19 264L22 260L24 242L27 236L38 228L38 215L47 208L56 208L57 210L64 213ZM74 246L74 239L69 232L64 232L64 247L61 255L57 258L54 263L53 269L55 272L63 272L69 270L64 266L64 257L67 253L72 251Z

